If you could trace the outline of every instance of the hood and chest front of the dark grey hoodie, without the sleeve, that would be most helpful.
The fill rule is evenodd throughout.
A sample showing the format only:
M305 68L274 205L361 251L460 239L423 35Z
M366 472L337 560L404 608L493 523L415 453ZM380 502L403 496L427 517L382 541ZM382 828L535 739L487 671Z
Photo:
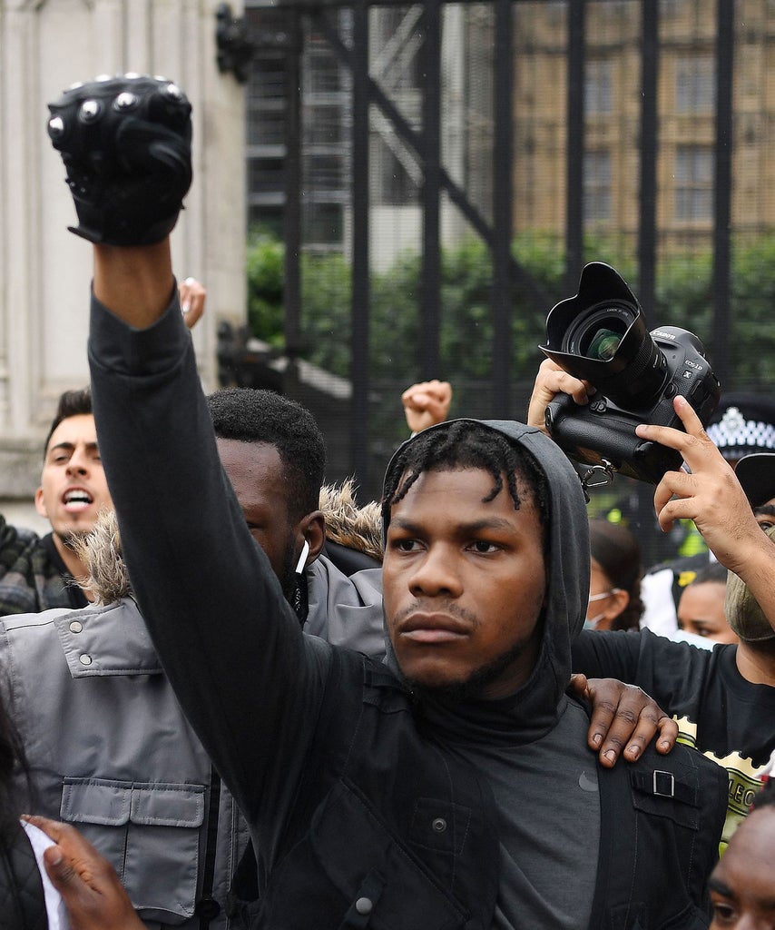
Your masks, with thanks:
M585 498L568 458L542 432L508 420L479 422L520 445L545 474L543 638L532 675L515 694L446 705L426 698L423 711L445 747L473 764L493 790L501 847L493 927L576 930L589 921L599 839L597 764L586 747L589 722L565 695L571 639L584 625L589 591ZM386 508L386 532L389 521ZM401 676L389 641L386 645L388 664Z

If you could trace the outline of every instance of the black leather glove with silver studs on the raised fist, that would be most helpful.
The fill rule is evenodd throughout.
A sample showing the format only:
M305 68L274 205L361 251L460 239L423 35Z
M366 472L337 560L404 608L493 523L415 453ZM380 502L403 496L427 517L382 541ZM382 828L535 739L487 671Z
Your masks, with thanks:
M177 221L191 183L191 105L164 78L99 77L48 104L78 214L72 233L106 246L150 246Z

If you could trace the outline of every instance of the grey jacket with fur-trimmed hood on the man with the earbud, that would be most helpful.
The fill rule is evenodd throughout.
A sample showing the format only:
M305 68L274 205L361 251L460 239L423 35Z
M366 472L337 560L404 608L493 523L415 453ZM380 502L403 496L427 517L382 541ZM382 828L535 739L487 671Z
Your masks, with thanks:
M347 489L327 488L322 505L340 538L358 545L363 514L348 506ZM82 830L153 930L203 930L208 910L209 930L225 930L247 828L164 675L132 598L113 513L88 543L95 605L0 624L0 672L28 751L32 809ZM379 572L361 574L350 580L327 559L309 565L305 629L381 655Z

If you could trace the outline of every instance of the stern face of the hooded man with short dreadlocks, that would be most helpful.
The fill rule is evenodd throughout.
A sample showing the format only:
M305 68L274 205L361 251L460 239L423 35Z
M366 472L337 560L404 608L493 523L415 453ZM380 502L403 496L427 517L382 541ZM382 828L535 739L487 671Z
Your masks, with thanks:
M383 563L390 641L409 684L504 697L527 681L546 587L532 495L481 469L423 472L391 510Z

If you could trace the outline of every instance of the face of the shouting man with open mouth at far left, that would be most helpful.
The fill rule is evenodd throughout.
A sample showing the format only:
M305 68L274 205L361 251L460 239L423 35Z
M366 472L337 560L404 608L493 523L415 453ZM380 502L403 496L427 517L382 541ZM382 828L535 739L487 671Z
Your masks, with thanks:
M65 544L90 532L100 510L112 509L91 414L63 419L51 433L40 482L35 510Z

